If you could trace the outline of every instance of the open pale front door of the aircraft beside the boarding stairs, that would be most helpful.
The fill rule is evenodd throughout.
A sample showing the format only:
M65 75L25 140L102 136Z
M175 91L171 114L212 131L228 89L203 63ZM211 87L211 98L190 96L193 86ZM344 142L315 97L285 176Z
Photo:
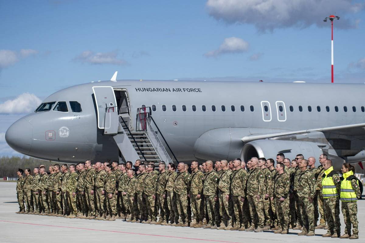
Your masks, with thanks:
M117 134L119 119L113 87L93 86L92 90L96 102L97 127L104 129L104 134Z

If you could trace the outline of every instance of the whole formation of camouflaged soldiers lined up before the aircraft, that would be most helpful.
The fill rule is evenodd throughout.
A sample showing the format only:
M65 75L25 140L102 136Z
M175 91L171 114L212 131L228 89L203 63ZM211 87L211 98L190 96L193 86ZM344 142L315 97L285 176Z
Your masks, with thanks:
M326 228L323 237L337 238L341 198L346 228L340 238L358 239L360 187L354 169L343 165L341 183L327 155L319 159L319 167L314 157L301 154L292 161L278 154L276 166L273 159L256 157L247 165L239 158L193 161L191 173L184 163L175 168L163 161L158 171L154 162L141 160L134 166L130 161L55 164L49 172L41 165L33 175L19 169L17 213L275 234L292 228L306 236Z

